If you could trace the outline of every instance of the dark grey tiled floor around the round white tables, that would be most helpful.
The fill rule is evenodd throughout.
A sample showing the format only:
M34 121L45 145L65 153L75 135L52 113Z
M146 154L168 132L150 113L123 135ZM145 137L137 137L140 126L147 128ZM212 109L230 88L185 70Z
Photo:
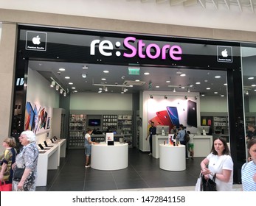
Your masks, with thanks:
M84 149L68 149L59 168L48 171L47 185L36 191L193 191L203 159L186 160L185 171L165 171L148 152L129 149L128 158L128 168L100 171L85 168ZM234 185L234 191L241 191L241 185Z

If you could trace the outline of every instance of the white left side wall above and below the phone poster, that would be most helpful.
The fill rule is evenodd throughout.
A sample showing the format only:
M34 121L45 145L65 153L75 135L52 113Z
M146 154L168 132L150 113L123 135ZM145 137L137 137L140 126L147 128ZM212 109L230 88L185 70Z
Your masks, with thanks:
M27 78L27 102L39 104L44 107L59 107L59 92L54 88L50 88L50 83L44 79L37 71L29 68ZM52 124L51 124L52 125ZM51 137L51 130L49 137ZM37 142L43 143L46 140L47 132L36 135Z

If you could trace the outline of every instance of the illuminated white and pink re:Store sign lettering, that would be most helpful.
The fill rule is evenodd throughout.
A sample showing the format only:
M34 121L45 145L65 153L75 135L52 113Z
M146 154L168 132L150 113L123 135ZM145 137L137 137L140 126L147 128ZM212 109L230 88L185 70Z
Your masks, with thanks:
M150 58L152 60L161 58L166 60L170 57L172 60L181 60L182 49L180 46L170 44L165 44L164 46L159 46L156 43L150 43L146 45L143 40L137 40L134 37L125 38L122 45L125 47L126 51L121 53L121 51L116 51L115 55L120 57L121 55L126 58L139 57L141 59ZM115 48L114 48L115 46ZM105 57L111 57L113 55L114 49L120 49L121 43L117 41L116 43L111 43L110 40L92 40L90 46L90 54L95 55L95 49L98 47L100 54Z

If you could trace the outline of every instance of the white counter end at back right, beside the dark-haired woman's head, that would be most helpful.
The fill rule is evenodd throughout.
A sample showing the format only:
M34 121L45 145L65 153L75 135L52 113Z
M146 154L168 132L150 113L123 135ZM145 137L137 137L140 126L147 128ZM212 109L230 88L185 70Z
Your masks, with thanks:
M211 135L194 136L194 157L207 157L212 149ZM189 152L188 152L189 154Z

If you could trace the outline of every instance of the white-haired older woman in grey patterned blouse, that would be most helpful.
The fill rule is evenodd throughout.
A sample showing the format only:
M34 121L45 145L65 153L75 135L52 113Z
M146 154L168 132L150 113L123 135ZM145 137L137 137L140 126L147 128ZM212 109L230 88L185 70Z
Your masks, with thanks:
M38 166L38 147L35 134L27 130L21 132L18 139L23 148L17 154L13 164L13 191L35 191Z

